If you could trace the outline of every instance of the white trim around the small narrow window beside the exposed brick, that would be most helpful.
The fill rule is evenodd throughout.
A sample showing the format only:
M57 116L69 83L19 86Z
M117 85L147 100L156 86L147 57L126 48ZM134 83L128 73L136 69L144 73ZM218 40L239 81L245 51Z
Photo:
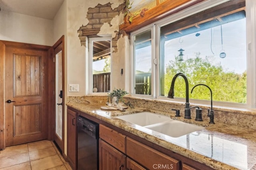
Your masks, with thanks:
M88 59L86 59L87 61L87 72L89 73L87 76L88 76L88 79L85 79L85 80L88 80L88 82L86 82L86 94L93 94L93 95L106 95L107 92L92 92L92 89L93 89L93 72L92 72L92 63L93 63L93 54L92 54L92 51L93 51L93 46L92 46L92 42L93 41L110 41L110 58L111 58L111 68L110 68L110 72L112 72L112 37L111 35L108 35L106 37L92 37L92 38L88 38L88 43L89 43L89 49L88 49ZM110 74L110 90L112 89L112 74Z

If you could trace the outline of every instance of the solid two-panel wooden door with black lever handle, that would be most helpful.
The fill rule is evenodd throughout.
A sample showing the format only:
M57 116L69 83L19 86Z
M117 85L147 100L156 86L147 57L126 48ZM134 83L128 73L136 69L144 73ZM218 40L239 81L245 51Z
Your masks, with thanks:
M6 147L47 139L48 51L6 47Z

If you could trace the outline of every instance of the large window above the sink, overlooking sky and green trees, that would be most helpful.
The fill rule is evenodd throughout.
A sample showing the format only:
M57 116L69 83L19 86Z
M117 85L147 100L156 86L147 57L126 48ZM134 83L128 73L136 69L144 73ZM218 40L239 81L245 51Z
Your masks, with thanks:
M246 48L246 43L251 41L246 40L247 31L250 30L248 22L245 0L205 1L185 9L154 23L155 37L147 38L146 31L131 33L134 72L156 69L156 76L150 74L150 71L143 71L144 74L149 73L154 80L152 84L156 84L156 90L152 88L156 98L167 99L172 78L181 72L189 80L190 92L193 86L206 84L212 89L215 104L251 107L255 99L248 94L248 89L254 92L252 87L255 78L248 75L251 75L249 72L254 72L255 66L248 67L247 62L254 62L254 57L251 57L252 54ZM137 39L148 43L139 47ZM156 43L156 48L152 48L149 39ZM146 64L144 60L152 64ZM147 95L136 92L136 76L138 75L134 74L134 94ZM146 86L141 86L140 92L146 92L143 88ZM182 78L177 78L174 89L176 100L183 101L186 93ZM200 103L202 100L210 100L209 89L204 86L195 88L189 96L195 102L200 100Z

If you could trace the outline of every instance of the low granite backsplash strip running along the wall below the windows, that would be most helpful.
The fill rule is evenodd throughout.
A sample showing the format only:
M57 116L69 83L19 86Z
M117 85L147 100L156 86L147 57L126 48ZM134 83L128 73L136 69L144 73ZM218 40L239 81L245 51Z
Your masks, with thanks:
M124 97L126 102L130 102L133 106L143 107L146 109L152 109L156 111L168 112L171 113L174 111L172 109L180 109L181 117L184 117L184 108L185 104L183 103L174 103L170 101L162 101L156 99L144 99L144 98L135 98L131 96ZM107 102L107 96L68 96L68 103L102 103ZM190 106L193 106L192 104ZM208 106L200 106L202 110L202 118L204 121L209 121L207 117ZM255 109L234 109L234 108L218 108L214 107L214 121L218 123L224 123L228 125L234 125L238 127L245 127L248 129L256 130L256 111ZM195 118L195 109L191 110L192 120Z

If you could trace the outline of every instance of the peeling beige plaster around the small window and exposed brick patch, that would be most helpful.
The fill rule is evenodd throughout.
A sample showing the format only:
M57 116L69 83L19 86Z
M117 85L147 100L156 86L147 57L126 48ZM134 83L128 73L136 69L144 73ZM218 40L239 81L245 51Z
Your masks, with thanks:
M95 8L100 5L110 3L111 8L114 10L123 4L124 0L67 0L67 83L68 84L79 84L79 92L67 92L67 96L84 96L86 95L86 56L88 54L88 47L86 43L81 45L79 32L80 27L88 25L89 20L86 18L89 8ZM129 68L126 65L126 59L129 53L130 43L127 36L119 34L119 25L123 22L123 14L113 16L110 23L103 23L100 27L98 36L112 35L113 39L116 39L116 44L122 45L122 47L114 47L115 51L112 55L112 87L126 88L125 84L127 77L129 77ZM125 47L124 47L125 46ZM126 64L126 65L125 65ZM124 69L124 74L120 75L121 68ZM118 81L117 81L118 80ZM128 88L129 89L129 88ZM128 90L129 91L129 90Z

